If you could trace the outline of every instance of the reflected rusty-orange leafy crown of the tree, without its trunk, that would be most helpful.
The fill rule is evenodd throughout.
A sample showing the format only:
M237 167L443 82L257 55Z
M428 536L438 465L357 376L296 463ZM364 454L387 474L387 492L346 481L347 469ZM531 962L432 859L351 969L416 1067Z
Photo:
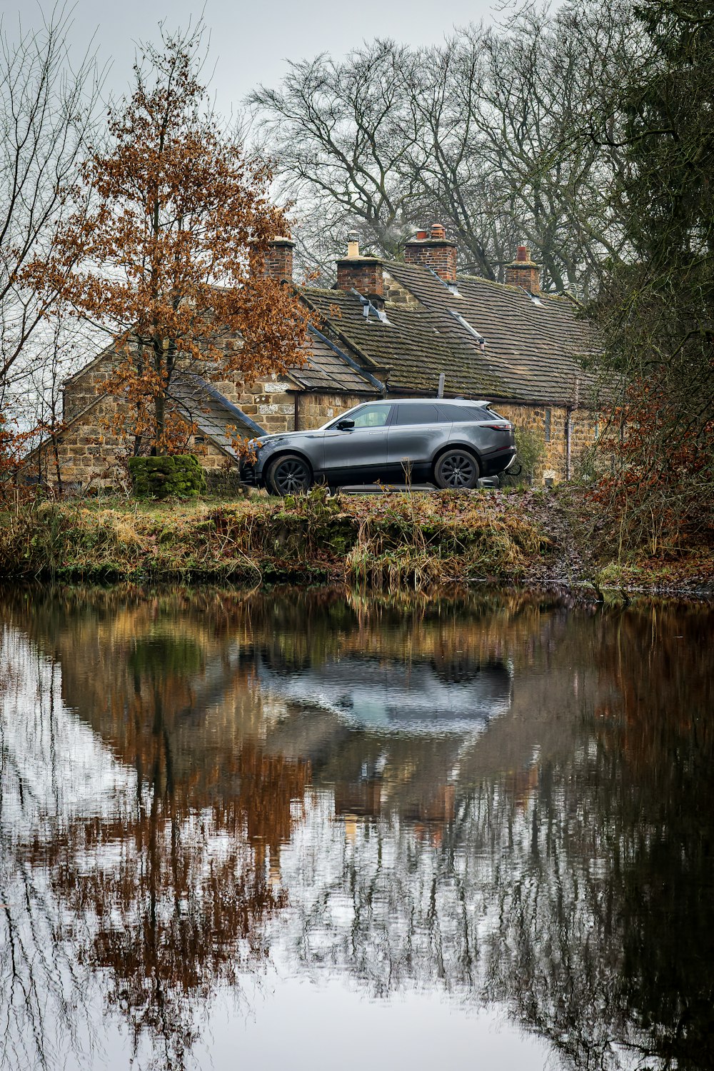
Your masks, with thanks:
M60 901L91 920L82 957L107 971L109 1008L126 1017L137 1049L147 1035L161 1067L180 1067L200 1000L267 954L263 926L285 893L261 860L265 845L278 850L280 812L289 815L305 774L246 746L234 769L243 790L201 806L171 784L164 741L153 757L133 813L73 824L46 862Z

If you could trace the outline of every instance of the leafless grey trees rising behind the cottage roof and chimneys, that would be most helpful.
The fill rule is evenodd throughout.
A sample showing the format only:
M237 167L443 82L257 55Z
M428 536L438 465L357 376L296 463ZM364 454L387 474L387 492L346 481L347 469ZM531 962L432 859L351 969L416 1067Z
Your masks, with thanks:
M323 263L354 226L398 255L414 225L439 218L467 271L502 277L526 240L546 287L592 290L623 231L618 150L591 133L638 46L631 0L572 0L431 48L376 41L343 62L292 64L248 103L283 194L319 224L306 259Z

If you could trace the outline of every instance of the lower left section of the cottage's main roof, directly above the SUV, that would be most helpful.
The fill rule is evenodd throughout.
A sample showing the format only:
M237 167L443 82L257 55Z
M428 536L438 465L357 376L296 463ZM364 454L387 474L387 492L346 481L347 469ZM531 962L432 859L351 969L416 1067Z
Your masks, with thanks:
M457 332L444 331L439 312L389 304L388 322L382 322L374 313L365 317L360 299L348 291L308 287L301 292L323 318L325 333L349 347L350 356L380 379L389 372L391 393L436 394L443 372L446 394L503 396L500 378Z

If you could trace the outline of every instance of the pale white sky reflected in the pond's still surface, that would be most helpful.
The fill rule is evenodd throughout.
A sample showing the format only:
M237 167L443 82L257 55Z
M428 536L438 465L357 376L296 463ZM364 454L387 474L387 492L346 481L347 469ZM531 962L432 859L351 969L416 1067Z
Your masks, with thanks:
M5 780L4 785L10 793L3 797L2 818L3 824L10 819L13 839L22 833L41 843L56 832L57 821L63 824L74 816L91 825L95 816L111 820L112 815L125 811L127 803L131 809L136 773L118 763L101 737L62 704L59 666L39 661L19 636L13 637L12 653L16 684L2 704L2 744L15 769L21 766L24 770L20 791L17 779ZM355 707L363 714L371 709L379 727L384 724L385 707L389 709L395 690L402 696L413 694L410 711L422 710L429 703L429 690L419 690L425 676L422 667L412 667L408 678L394 667L388 667L385 674L389 681L369 688L364 680L360 684L355 680L351 691ZM453 685L435 682L429 673L426 677L431 680L431 695L439 694L443 699L450 693ZM297 687L297 692L301 691ZM48 722L49 710L40 712L36 704L39 696L44 704L50 692ZM455 702L447 708L450 713L458 709L464 695L473 696L473 682L456 685L455 693ZM376 1068L426 1069L444 1061L462 1062L466 1054L477 1054L489 1066L507 1067L510 1061L516 1061L519 1071L542 1071L547 1058L555 1066L552 1057L548 1057L548 1046L508 1021L502 1008L481 1007L467 990L456 1004L443 992L440 996L431 992L427 981L430 971L416 985L405 975L386 1000L377 998L382 987L383 963L376 960L375 969L364 977L351 977L338 967L328 949L335 933L348 933L353 925L354 905L341 892L345 834L331 820L333 814L330 793L320 791L308 803L294 843L283 853L279 880L288 889L290 903L269 926L270 960L257 975L253 971L244 975L236 991L224 989L206 1002L199 1015L203 1036L186 1067L228 1071L239 1059L245 1066L259 1062L263 1067L290 1067L298 1071L303 1068L328 1071L337 1062L347 1071L361 1071L367 1060ZM192 830L195 833L202 827L200 814L188 816L182 827L182 836L189 835ZM354 843L348 845L352 855L355 848ZM123 850L117 844L107 844L105 865L111 866L112 858L118 861ZM219 855L218 840L216 858ZM75 865L89 874L92 860L91 853L74 857ZM366 858L364 861L367 863ZM52 893L42 871L39 878L37 891L50 901ZM16 876L4 873L3 889L12 901L9 908L14 910L22 895L21 885ZM307 949L304 920L320 897L329 906L323 922L314 929ZM121 925L121 918L116 924ZM88 934L91 932L90 923ZM49 932L45 934L45 951L51 955ZM78 969L83 959L80 947L67 936L64 965L59 965L55 983L56 997L62 993L62 1002L75 1002L73 983L83 978L81 1012L73 1027L74 1040L69 1042L64 1015L58 1016L55 1001L48 999L43 1023L47 1067L50 1071L59 1068L88 1071L101 1064L108 1071L120 1071L133 1062L138 1069L168 1069L161 1057L155 1062L156 1053L146 1037L132 1060L125 1027L113 1014L108 1019L104 1014L101 976L92 977ZM75 956L76 963L70 967ZM47 968L49 976L49 961ZM459 1007L461 1000L466 1004ZM13 1049L10 1066L13 1071L30 1071L30 1068L34 1071L31 1057L28 1055L24 1062L22 1052L17 1047Z

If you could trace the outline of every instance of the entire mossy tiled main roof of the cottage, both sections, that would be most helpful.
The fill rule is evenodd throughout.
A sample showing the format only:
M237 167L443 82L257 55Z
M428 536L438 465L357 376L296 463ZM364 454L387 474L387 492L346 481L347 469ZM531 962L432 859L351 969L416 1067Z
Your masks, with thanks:
M325 334L375 375L388 375L390 393L436 393L443 372L446 395L541 405L592 401L594 381L580 362L593 352L594 337L567 298L538 295L534 304L520 287L474 276L459 276L455 295L423 266L385 261L384 268L421 303L388 303L388 323L371 313L365 318L353 293L301 292L323 318Z

